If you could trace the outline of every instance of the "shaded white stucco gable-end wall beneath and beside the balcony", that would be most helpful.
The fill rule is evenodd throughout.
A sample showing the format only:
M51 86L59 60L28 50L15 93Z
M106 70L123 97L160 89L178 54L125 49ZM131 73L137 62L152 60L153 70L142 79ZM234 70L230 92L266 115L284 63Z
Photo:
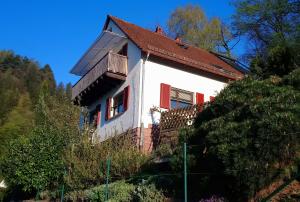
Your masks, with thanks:
M124 35L122 31L113 23L108 24L108 28L112 28L112 32L118 33L119 35ZM140 67L141 67L141 51L140 49L133 44L131 41L128 42L128 75L126 81L117 87L116 89L111 90L106 95L103 95L99 100L95 101L89 110L94 110L98 104L101 104L101 122L97 128L97 135L101 140L106 139L107 137L126 132L128 129L138 127L139 120L139 98L140 98ZM106 108L106 99L108 97L114 97L119 92L123 91L126 86L130 86L129 94L129 105L128 109L121 114L120 116L113 117L110 120L105 120L105 108Z

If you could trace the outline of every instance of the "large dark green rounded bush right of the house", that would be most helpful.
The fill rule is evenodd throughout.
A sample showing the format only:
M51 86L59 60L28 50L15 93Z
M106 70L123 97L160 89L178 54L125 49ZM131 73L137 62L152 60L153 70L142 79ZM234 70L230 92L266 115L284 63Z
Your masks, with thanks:
M221 91L199 115L189 138L199 147L193 152L194 169L219 175L207 177L214 183L226 180L227 194L240 200L284 175L295 164L300 143L298 84L295 70L283 79L248 77Z

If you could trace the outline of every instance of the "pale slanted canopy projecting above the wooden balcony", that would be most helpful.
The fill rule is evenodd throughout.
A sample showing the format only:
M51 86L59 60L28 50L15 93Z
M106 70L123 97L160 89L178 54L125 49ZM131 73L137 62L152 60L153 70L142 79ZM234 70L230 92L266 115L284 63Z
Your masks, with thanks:
M127 42L127 40L128 39L125 36L104 30L71 69L70 73L78 76L85 75L108 51L118 48L120 45Z

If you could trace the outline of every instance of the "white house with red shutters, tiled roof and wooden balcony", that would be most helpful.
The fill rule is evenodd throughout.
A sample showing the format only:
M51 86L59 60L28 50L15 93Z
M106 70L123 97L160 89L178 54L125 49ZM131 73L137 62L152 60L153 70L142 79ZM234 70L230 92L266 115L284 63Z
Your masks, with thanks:
M243 77L228 58L108 16L102 33L72 68L75 104L87 106L101 140L128 130L151 151L150 109L203 103Z

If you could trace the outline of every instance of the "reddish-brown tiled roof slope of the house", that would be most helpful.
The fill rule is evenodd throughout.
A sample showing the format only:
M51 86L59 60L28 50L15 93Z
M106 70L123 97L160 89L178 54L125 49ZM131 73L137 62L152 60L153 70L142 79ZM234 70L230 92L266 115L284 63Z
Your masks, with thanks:
M229 79L239 79L243 73L206 50L178 43L162 34L152 32L119 18L108 16L142 51L164 59L191 66ZM106 27L105 27L106 28Z

